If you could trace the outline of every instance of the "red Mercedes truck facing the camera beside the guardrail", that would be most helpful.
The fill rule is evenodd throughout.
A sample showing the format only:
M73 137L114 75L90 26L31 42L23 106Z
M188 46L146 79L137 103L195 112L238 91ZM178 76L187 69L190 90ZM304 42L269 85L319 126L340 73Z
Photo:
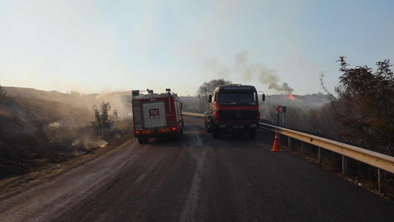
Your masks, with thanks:
M265 94L262 94L262 101ZM214 138L223 133L248 132L251 139L259 128L258 94L250 85L220 85L208 95L209 112L204 113L205 131Z

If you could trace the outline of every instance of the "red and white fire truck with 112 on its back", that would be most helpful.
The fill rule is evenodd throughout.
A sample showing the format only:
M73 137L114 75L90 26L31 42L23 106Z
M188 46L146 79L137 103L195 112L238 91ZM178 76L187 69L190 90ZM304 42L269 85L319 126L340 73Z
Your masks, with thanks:
M177 94L167 92L139 94L132 90L134 137L140 144L148 143L149 138L175 137L180 140L183 134L182 103Z

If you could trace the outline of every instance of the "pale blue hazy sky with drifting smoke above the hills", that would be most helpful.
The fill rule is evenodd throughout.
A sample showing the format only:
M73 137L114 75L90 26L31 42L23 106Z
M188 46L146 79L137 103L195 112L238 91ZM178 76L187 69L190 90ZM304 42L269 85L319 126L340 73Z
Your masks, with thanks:
M0 0L2 86L192 96L225 78L304 95L325 93L321 71L334 91L339 56L393 64L394 1Z

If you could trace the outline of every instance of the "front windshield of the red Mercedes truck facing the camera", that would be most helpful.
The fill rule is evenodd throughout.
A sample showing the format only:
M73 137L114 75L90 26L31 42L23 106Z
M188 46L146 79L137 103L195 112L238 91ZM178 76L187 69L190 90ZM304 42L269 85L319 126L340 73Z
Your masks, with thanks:
M254 92L227 93L220 92L217 98L219 105L256 105Z

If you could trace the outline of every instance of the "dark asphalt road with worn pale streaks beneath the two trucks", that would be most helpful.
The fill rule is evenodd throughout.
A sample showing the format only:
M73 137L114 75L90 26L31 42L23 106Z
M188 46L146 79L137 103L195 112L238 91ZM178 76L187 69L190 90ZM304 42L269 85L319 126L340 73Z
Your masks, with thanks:
M0 200L0 221L394 221L394 205L247 134L132 139Z

